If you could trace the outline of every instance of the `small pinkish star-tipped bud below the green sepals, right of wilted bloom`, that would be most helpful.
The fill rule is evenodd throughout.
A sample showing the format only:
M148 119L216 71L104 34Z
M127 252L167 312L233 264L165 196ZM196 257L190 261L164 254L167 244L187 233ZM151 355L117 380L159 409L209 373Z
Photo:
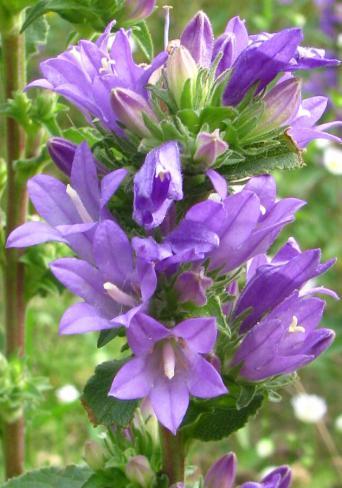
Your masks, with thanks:
M216 159L228 149L228 144L220 137L219 129L214 132L200 132L196 139L195 161L212 166Z

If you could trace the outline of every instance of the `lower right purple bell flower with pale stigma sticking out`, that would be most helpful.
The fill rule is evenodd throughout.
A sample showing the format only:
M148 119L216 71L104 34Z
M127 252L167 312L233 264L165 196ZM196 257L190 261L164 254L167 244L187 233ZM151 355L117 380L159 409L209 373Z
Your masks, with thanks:
M248 332L232 364L241 365L243 378L260 381L312 362L335 337L332 330L317 328L324 306L323 300L295 291Z

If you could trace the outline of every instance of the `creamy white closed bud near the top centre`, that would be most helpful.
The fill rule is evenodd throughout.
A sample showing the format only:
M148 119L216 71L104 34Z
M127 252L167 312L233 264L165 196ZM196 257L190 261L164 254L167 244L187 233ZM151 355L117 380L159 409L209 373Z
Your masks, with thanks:
M177 104L180 104L184 85L187 80L193 83L198 74L198 67L190 52L184 46L175 48L166 64L169 89Z

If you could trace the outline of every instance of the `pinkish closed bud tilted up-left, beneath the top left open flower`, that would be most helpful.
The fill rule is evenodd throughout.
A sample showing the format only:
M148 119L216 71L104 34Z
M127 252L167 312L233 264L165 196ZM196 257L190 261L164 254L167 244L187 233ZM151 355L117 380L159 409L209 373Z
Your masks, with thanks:
M157 122L147 101L132 90L114 88L112 90L112 107L117 119L129 130L141 137L150 135L150 131L144 123L143 113Z

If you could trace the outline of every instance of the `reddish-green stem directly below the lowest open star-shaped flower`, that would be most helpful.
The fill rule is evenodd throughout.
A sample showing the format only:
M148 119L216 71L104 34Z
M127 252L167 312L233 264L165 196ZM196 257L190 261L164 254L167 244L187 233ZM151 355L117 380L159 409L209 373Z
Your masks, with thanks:
M163 472L169 478L169 484L184 482L185 449L181 434L175 436L165 427L160 427L160 439L163 459Z

